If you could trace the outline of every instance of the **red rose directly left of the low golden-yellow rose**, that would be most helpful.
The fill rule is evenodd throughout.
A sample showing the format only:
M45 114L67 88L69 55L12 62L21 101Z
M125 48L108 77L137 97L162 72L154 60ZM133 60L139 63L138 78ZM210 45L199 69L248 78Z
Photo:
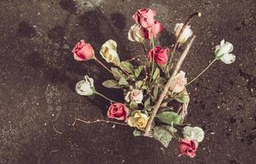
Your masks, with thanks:
M126 121L129 109L122 103L113 103L107 110L108 118L114 118L120 121Z

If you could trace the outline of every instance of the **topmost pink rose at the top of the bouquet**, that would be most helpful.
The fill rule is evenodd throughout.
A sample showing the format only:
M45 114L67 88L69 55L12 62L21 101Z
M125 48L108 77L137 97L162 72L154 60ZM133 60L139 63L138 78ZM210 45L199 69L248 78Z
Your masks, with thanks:
M142 8L137 10L132 17L137 24L148 29L154 25L153 16L156 16L156 11L149 8Z

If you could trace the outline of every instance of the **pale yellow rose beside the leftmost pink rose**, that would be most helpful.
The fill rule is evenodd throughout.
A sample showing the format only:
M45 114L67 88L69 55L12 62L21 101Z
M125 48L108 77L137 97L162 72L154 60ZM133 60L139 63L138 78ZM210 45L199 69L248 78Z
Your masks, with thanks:
M117 53L116 41L109 39L107 42L103 43L100 54L107 62L112 62L115 65L119 65L120 59Z

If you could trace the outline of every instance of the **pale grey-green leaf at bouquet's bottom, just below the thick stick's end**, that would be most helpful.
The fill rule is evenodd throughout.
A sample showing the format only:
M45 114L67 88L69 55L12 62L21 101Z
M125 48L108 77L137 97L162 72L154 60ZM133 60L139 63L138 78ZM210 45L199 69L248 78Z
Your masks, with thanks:
M162 145L167 148L171 141L172 135L167 130L162 129L159 126L153 128L153 138L157 139Z

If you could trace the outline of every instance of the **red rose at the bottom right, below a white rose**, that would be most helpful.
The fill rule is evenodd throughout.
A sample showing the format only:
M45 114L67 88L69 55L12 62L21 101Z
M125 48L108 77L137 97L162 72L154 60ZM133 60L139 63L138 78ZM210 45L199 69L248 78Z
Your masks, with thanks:
M179 152L181 155L194 157L198 143L193 140L181 139L179 144Z

